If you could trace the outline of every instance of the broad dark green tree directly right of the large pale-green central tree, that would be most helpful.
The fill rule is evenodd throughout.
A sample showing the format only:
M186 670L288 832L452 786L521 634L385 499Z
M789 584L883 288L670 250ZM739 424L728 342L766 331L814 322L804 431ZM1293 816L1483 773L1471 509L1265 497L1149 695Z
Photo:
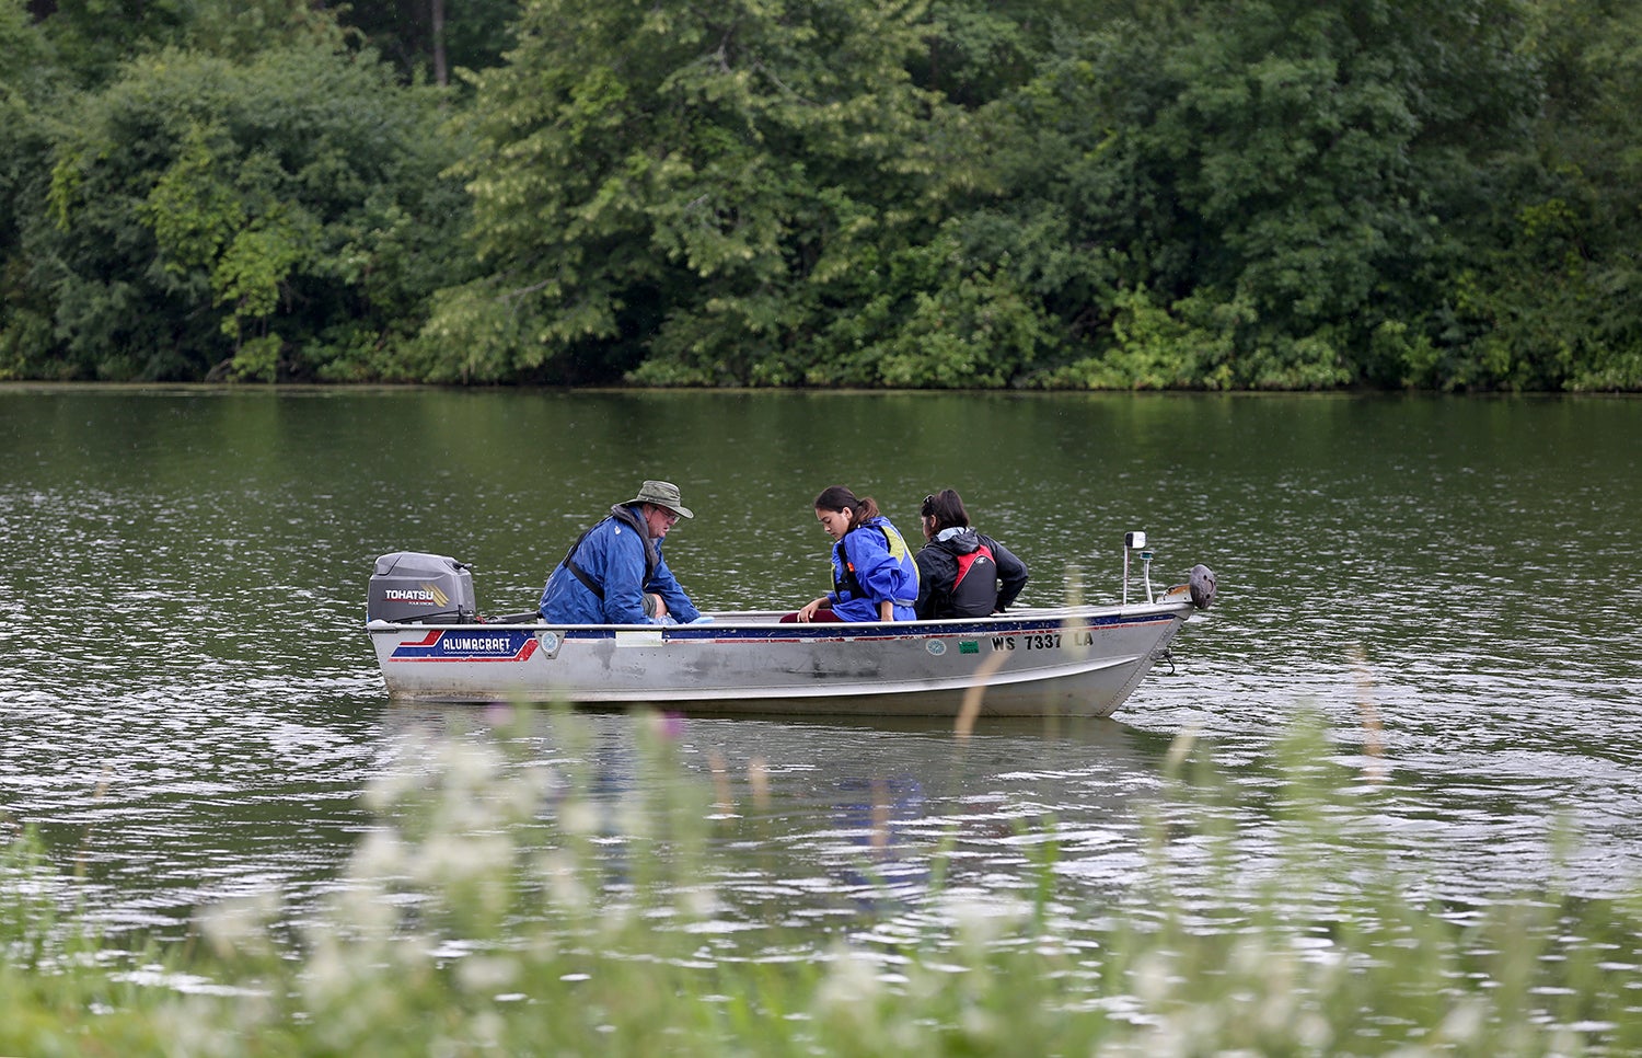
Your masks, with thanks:
M1008 194L964 220L1066 327L1072 356L1036 380L1399 370L1430 343L1443 215L1489 146L1473 130L1529 113L1511 26L1496 0L1238 0L1136 7L1064 41L990 108Z

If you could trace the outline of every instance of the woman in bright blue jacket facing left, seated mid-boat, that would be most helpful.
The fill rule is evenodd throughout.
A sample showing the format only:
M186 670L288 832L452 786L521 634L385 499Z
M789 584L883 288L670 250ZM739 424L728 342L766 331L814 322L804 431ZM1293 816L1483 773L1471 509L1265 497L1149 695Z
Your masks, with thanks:
M816 519L832 544L832 590L782 621L911 621L918 564L872 496L842 485L816 496Z

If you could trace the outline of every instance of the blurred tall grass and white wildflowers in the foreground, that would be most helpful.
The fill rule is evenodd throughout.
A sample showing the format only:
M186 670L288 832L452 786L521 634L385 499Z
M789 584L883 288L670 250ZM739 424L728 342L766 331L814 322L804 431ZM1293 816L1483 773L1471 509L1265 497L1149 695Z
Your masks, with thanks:
M1337 794L1350 777L1319 764L1317 728L1286 744L1281 838L1253 876L1246 858L1230 866L1240 836L1212 810L1228 787L1182 752L1190 780L1118 904L1084 907L1049 856L1036 910L957 913L900 950L849 933L726 943L734 933L711 928L711 843L737 823L663 738L645 743L645 780L614 818L589 775L511 761L506 744L445 741L378 784L383 828L297 945L276 941L276 908L246 904L207 908L187 943L99 943L59 918L61 879L30 835L13 836L0 859L0 1055L1642 1048L1637 905L1409 895L1420 879L1378 851L1373 790ZM1182 849L1199 859L1190 886ZM1204 858L1225 864L1207 884ZM1102 923L1095 940L1057 932L1067 915Z

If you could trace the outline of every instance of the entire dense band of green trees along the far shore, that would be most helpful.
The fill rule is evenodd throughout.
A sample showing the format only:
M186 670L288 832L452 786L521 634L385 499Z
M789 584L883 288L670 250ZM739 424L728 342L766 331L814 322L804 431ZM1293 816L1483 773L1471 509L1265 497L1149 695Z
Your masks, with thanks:
M1627 0L0 0L0 380L1642 388Z

